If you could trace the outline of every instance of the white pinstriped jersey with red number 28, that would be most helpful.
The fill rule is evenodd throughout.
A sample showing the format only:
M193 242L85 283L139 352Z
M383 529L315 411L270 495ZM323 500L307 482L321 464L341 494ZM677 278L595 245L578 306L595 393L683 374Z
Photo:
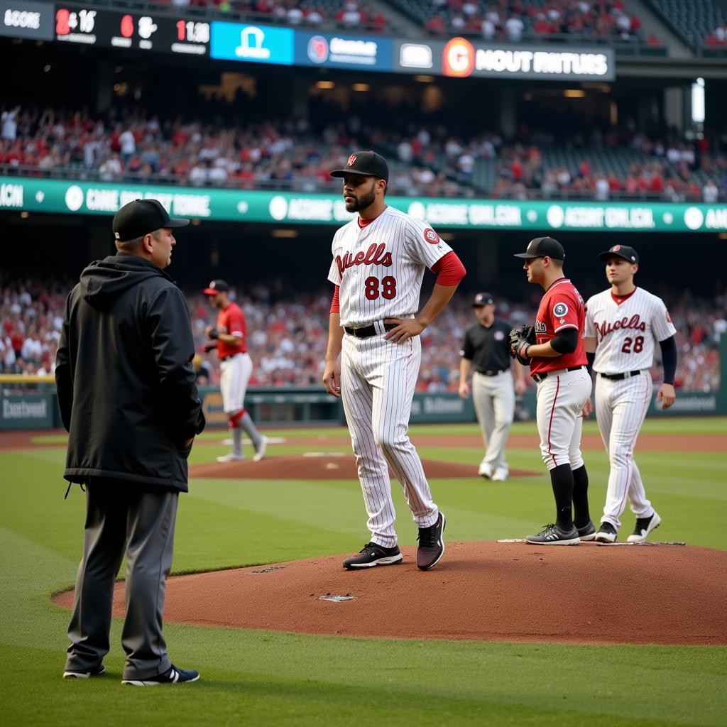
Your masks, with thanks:
M676 333L664 301L641 288L616 302L611 289L588 299L586 337L596 339L593 370L623 374L651 369L654 346Z

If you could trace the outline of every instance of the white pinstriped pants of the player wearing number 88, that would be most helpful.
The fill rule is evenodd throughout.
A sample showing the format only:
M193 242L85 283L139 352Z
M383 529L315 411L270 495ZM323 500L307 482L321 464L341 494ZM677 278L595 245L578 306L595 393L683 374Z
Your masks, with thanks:
M401 484L418 528L439 516L417 450L409 441L409 414L422 361L422 342L414 337L397 344L384 329L369 338L344 334L341 398L364 492L371 542L396 545L396 513L389 467Z

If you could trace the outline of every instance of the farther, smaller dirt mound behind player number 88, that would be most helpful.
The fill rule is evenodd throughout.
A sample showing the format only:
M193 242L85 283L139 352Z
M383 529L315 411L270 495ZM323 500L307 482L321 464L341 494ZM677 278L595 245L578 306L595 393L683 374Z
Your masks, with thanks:
M269 457L261 462L246 459L243 462L212 462L192 465L190 478L222 478L229 480L357 480L356 459L342 452L308 452L289 457ZM478 465L422 459L427 478L478 478ZM510 477L533 477L539 472L510 470ZM393 478L393 474L389 472Z

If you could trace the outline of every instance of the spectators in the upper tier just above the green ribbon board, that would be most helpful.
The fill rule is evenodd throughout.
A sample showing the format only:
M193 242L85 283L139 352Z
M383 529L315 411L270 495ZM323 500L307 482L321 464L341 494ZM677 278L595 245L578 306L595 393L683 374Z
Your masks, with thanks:
M727 197L727 133L687 140L668 130L646 134L630 120L619 128L591 126L588 134L563 129L562 135L521 124L507 139L496 131L452 134L436 123L371 127L355 114L316 133L304 119L236 126L160 119L138 108L112 108L100 116L15 106L1 111L0 174L337 190L329 169L362 146L390 156L389 188L395 194L704 202Z

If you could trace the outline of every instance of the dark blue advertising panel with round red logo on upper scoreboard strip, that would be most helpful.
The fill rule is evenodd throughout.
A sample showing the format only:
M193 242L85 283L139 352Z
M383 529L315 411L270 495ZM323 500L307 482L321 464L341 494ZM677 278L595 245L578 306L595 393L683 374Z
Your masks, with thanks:
M296 31L295 64L392 71L393 47L393 40L390 38Z

